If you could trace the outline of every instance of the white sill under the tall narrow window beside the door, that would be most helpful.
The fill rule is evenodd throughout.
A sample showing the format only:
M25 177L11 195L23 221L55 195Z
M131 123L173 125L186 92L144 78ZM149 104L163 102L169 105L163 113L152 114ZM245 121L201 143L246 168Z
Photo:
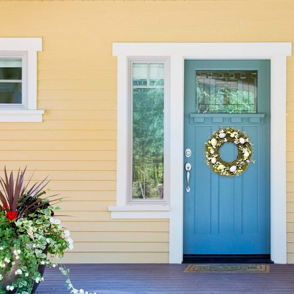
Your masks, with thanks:
M169 205L109 206L112 219L170 219Z

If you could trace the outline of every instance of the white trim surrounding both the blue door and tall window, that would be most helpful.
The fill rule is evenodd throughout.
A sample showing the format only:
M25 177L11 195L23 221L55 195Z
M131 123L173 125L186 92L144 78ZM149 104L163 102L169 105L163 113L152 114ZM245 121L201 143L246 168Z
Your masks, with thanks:
M170 263L183 258L183 103L185 59L269 59L270 85L270 254L275 263L287 263L286 236L286 56L292 54L292 43L114 43L118 56L118 160L117 206L109 207L112 218L170 219ZM128 56L170 57L170 211L127 211L123 193L126 162L126 99ZM172 119L171 119L172 118ZM121 190L122 189L122 190ZM141 208L140 208L141 209ZM152 210L151 210L152 209ZM161 209L159 207L158 209Z

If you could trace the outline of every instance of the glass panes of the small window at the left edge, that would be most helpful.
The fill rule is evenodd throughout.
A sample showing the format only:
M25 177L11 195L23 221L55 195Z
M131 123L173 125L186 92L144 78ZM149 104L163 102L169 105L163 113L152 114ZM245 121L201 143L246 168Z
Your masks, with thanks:
M0 58L0 106L23 104L22 68L22 58Z

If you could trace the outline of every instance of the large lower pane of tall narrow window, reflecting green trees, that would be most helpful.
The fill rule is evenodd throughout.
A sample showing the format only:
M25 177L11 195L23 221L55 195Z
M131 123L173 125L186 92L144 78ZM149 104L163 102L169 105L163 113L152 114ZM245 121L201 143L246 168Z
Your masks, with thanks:
M158 198L163 185L164 89L133 89L133 198Z

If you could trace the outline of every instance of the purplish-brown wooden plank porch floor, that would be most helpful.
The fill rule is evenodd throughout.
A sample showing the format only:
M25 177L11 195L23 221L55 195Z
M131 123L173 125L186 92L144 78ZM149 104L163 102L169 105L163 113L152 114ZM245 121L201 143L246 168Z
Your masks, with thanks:
M97 294L294 294L294 264L270 273L184 273L188 264L70 264L75 288ZM35 294L67 294L66 277L47 268Z

